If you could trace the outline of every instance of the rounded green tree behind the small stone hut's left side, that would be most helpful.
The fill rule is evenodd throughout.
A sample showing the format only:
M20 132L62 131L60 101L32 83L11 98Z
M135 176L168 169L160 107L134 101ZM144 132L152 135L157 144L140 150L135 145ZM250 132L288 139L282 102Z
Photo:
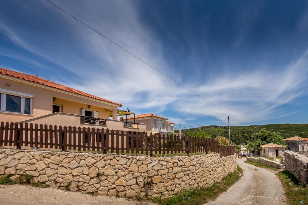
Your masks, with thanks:
M255 138L255 134L252 135ZM267 130L261 130L257 133L257 150L260 150L260 146L263 144L274 143L287 146L286 141L278 132L270 132ZM246 147L249 150L254 151L255 141L250 141Z

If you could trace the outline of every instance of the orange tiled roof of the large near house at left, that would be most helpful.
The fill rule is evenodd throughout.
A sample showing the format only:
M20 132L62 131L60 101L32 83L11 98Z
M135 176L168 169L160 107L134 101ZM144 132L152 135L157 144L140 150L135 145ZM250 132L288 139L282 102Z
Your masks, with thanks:
M116 105L122 105L120 103L109 101L109 100L106 100L104 98L97 97L95 95L91 95L89 93L82 92L80 90L69 88L65 85L61 85L61 84L58 84L58 83L55 83L55 82L52 82L52 81L48 81L48 80L41 78L41 77L38 77L38 76L28 75L28 74L25 74L25 73L20 73L20 72L17 72L17 71L8 70L8 69L4 69L4 68L0 68L0 74L20 78L20 79L23 79L23 80L26 80L26 81L31 81L31 82L34 82L34 83L39 83L41 85L47 85L49 87L64 90L64 91L67 91L67 92L70 92L70 93L83 95L83 96L86 96L86 97L91 97L91 98L101 100L101 101L105 101L105 102L108 102L108 103L112 103L112 104L116 104Z

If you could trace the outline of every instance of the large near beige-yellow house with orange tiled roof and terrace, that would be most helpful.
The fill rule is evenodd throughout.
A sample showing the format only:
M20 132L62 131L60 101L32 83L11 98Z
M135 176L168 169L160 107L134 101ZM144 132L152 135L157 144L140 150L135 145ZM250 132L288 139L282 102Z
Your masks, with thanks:
M119 110L121 106L37 75L0 68L0 121L144 132L143 123L117 120L134 114Z

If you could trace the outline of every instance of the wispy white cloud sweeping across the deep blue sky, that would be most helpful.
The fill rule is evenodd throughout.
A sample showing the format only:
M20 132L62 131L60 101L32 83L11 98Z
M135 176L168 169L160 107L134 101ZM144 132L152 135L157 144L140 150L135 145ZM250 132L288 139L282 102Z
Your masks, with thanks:
M303 88L307 80L307 52L299 57L298 61L281 68L280 72L262 67L251 72L224 73L208 81L194 82L193 79L181 78L180 73L176 73L176 68L169 67L171 65L165 59L162 41L142 23L134 4L108 1L102 6L99 2L91 5L80 2L78 6L71 7L67 2L56 3L64 9L70 8L69 12L99 32L244 122L286 116L287 113L277 109L278 106L294 100L303 92L306 93ZM70 47L71 44L61 40L61 36L55 37L51 44L42 42L39 45L28 37L29 33L23 35L19 32L19 26L0 22L0 27L16 45L80 77L79 81L67 79L63 84L123 103L124 109L128 107L136 112L148 109L159 113L173 109L183 116L167 116L176 124L187 124L189 119L204 116L214 116L220 120L226 118L226 113L193 95L70 16L63 15L49 4L43 7L49 10L54 18L60 18L56 22L62 21L67 31L71 32L76 39L76 50ZM49 16L45 20L51 21ZM30 30L28 28L26 32ZM42 37L43 34L37 36ZM241 124L235 119L231 121L232 124Z

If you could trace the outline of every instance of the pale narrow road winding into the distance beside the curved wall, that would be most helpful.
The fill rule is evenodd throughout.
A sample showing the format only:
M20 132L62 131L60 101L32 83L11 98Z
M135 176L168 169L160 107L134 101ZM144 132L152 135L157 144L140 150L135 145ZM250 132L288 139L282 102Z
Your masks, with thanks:
M245 158L237 158L237 164L244 170L241 179L207 204L286 204L284 190L275 172L244 161Z

